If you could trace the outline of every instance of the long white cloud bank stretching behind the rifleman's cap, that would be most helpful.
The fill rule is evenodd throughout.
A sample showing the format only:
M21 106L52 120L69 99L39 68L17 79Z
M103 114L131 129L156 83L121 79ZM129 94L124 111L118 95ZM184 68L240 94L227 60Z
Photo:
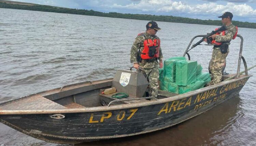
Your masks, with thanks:
M233 0L238 1L238 0ZM184 2L171 0L141 0L139 3L130 3L127 5L113 4L111 8L128 9L143 12L155 13L195 13L195 14L214 14L220 15L224 12L231 12L237 16L256 17L256 10L247 4L236 4L228 2L226 5L214 2L197 5L189 5Z

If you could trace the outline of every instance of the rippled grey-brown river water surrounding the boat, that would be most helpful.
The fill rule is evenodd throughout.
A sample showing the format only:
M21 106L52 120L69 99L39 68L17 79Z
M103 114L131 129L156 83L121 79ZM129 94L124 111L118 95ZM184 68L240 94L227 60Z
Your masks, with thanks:
M236 20L236 16L233 18ZM0 102L83 81L111 78L127 69L130 48L148 21L0 8ZM182 56L196 35L218 26L158 22L165 59ZM256 63L256 29L239 28L247 66ZM197 39L198 40L198 39ZM197 41L196 40L196 41ZM226 72L236 73L240 38L232 40ZM212 49L189 52L208 71ZM241 63L241 71L244 70ZM256 68L240 95L179 125L79 146L256 145ZM0 123L1 146L59 146ZM78 146L77 145L77 146Z

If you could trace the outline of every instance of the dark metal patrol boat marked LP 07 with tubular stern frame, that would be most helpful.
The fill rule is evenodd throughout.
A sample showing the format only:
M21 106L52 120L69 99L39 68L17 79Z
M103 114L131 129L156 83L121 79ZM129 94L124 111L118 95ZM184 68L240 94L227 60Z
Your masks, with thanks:
M183 56L187 54L190 59L191 43L203 36L195 36ZM241 44L237 74L223 75L219 84L184 94L159 90L158 99L132 95L144 93L144 90L131 87L127 91L129 97L118 99L112 97L116 92L102 94L104 89L116 84L115 77L87 81L2 102L0 122L40 140L66 144L120 138L171 127L239 94L252 75L248 75L242 56L243 38L238 37ZM240 74L241 59L245 75ZM138 71L127 72L138 74Z

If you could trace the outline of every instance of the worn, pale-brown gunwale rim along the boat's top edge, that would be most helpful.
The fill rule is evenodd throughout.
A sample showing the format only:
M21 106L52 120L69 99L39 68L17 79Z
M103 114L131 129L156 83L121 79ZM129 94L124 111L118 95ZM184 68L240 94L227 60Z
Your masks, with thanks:
M253 75L240 76L239 78L234 78L234 79L230 79L230 80L227 80L227 81L223 81L221 83L211 85L211 86L208 86L208 87L204 87L204 88L201 88L201 89L197 89L195 91L190 91L188 93L162 98L162 99L158 99L157 101L151 101L151 102L122 104L122 105L114 105L114 106L110 106L110 107L108 107L108 106L88 107L88 108L84 108L84 109L59 109L59 110L58 109L57 110L1 110L0 109L0 115L6 115L6 114L82 113L82 112L110 111L110 110L119 110L119 109L128 109L128 108L138 108L138 107L144 107L144 106L151 106L151 105L176 101L176 100L182 99L184 97L193 96L195 94L202 93L202 92L205 92L205 91L208 91L208 90L212 90L212 89L215 89L217 87L221 87L223 85L227 85L227 84L230 84L230 83L238 81L238 80L242 80L242 79L245 79L245 78L250 78L251 76L253 76ZM103 80L97 80L97 81L104 81L104 80L109 80L109 79L103 79ZM97 82L97 81L94 81L94 82ZM56 88L56 89L60 89L60 88ZM39 93L34 93L34 94L31 94L31 95L28 95L28 96L18 97L18 98L15 98L15 99L26 98L26 97L29 97L29 96L32 96L32 95L35 95L35 94L40 94L40 93L42 94L42 93L46 93L48 91L53 91L53 90L56 90L56 89L47 90L47 91L43 91L43 92L39 92ZM15 99L11 99L11 100L6 101L6 102L11 102ZM3 103L5 103L5 102L3 102ZM2 103L0 103L0 104L2 104Z

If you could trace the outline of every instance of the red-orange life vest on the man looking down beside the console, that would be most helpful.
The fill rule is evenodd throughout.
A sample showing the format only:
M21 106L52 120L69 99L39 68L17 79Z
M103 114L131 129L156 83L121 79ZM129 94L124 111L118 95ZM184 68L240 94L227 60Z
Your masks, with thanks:
M144 37L146 38L145 35ZM143 45L144 49L141 52L141 59L152 59L159 57L160 39L145 39Z

